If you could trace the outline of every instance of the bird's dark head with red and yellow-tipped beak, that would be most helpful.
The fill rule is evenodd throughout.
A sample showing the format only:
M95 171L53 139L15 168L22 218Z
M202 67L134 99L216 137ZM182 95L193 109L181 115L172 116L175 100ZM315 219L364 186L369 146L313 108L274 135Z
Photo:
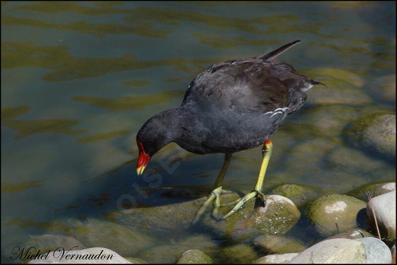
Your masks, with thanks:
M175 123L166 112L150 118L136 134L136 144L139 149L136 173L143 174L150 158L166 144L175 139Z

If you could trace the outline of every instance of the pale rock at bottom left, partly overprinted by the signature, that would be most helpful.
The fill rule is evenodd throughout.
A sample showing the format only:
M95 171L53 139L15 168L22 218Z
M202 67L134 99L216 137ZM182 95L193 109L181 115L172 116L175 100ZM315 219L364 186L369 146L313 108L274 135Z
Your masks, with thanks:
M29 264L131 264L131 262L110 249L89 248L71 250L67 253L65 251L64 256L62 253L50 252L48 259L33 260Z

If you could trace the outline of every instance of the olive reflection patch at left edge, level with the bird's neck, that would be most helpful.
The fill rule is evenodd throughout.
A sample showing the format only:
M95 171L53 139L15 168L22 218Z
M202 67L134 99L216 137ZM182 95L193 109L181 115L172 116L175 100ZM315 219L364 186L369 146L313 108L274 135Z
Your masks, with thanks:
M29 110L29 106L1 108L1 125L18 131L18 134L14 137L15 140L36 133L78 135L86 131L73 130L72 128L80 124L80 121L71 119L15 120L15 118L27 113Z

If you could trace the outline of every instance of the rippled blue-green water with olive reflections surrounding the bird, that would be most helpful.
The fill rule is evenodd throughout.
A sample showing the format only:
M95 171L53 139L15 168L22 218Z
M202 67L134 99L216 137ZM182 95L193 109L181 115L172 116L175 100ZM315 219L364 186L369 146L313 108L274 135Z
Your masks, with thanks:
M105 218L131 207L128 199L136 200L132 206L164 203L148 196L154 189L209 192L222 154L193 155L170 144L148 165L157 175L137 177L137 131L178 106L191 79L211 64L296 39L302 43L280 59L328 88L314 87L273 135L264 191L294 183L323 195L395 181L394 158L370 153L351 136L360 119L395 113L396 94L384 92L396 78L395 25L395 2L2 1L1 260L32 235L69 235L64 220L114 224ZM261 147L235 154L223 187L251 190L261 158ZM303 220L289 234L310 244L318 238L305 227ZM206 236L208 251L222 250ZM155 249L152 261L175 248L159 235L129 253L110 237L87 247L146 260Z

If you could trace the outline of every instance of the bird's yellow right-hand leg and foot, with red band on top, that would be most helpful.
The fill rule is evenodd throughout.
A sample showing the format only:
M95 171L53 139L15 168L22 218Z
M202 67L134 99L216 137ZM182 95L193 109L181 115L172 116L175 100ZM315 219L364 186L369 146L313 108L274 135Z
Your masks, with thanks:
M240 199L237 199L235 201L226 204L221 204L221 206L223 206L223 205L230 205L236 203L234 207L225 216L219 219L219 221L225 220L227 217L235 213L241 206L243 206L244 203L255 197L260 197L265 203L265 195L262 193L262 186L264 183L266 168L269 163L272 149L273 149L273 144L271 143L270 140L266 140L264 147L262 148L263 160L262 160L261 170L259 172L258 181L257 184L255 185L254 190Z

